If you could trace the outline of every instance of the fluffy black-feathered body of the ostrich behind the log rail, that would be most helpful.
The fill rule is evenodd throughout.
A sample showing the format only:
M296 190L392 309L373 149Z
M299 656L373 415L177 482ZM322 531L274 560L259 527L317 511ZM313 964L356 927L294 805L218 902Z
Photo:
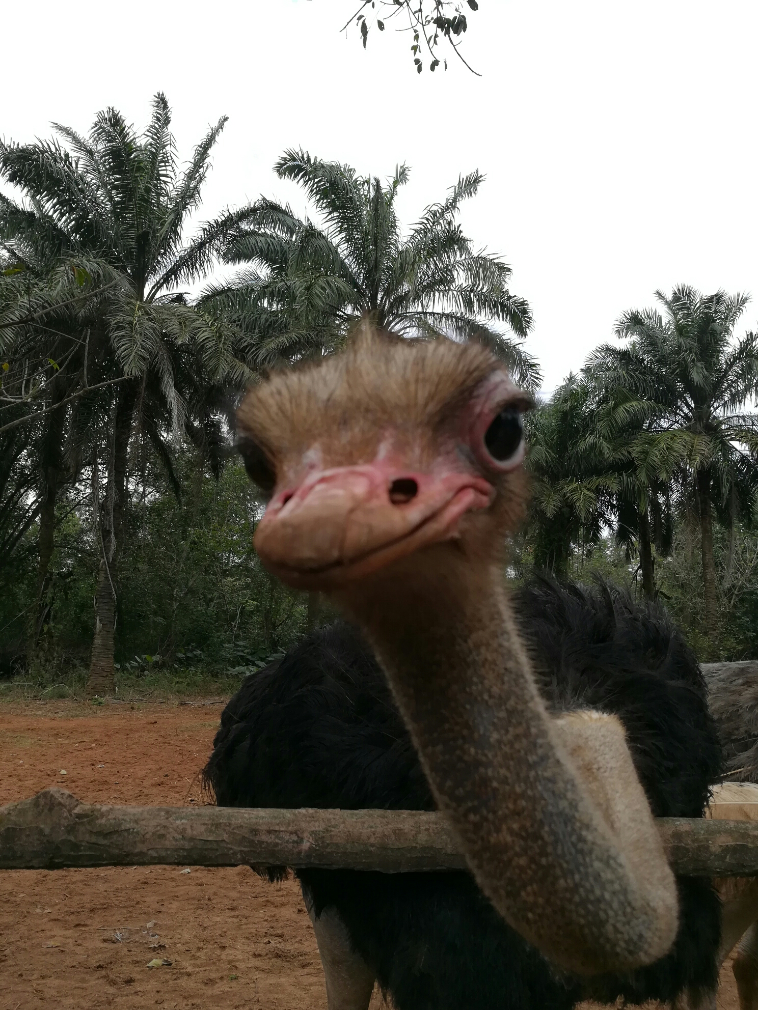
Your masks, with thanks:
M520 591L514 609L550 711L618 714L654 813L699 816L720 750L697 665L662 615L547 582ZM384 676L344 624L250 678L224 711L206 776L223 805L435 807ZM668 1001L716 985L719 906L705 881L677 881L667 956L587 981L525 942L466 874L298 876L330 1010L365 1010L375 979L398 1010L567 1010L590 995ZM347 942L333 953L341 930Z

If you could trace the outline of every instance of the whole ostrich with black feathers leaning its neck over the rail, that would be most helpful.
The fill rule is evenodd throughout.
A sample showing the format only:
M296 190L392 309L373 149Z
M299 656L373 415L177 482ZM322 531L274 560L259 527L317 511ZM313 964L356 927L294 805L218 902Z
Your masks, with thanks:
M461 1005L419 986L436 969L445 974L430 938L447 941L460 962L476 945L477 924L476 940L488 946L477 967L505 964L509 984L477 993L478 1003L464 997L470 1006L562 1008L587 994L673 999L716 984L718 900L702 882L674 879L653 822L654 814L700 814L718 774L699 672L670 628L625 611L607 592L574 592L572 607L570 593L549 598L543 589L514 617L501 544L526 498L527 406L478 346L368 331L340 357L274 376L239 413L249 473L272 496L256 532L260 557L290 585L326 592L360 625L424 774L408 766L412 751L397 727L393 747L376 747L376 762L358 767L338 715L331 773L342 762L357 805L434 802L481 889L465 875L443 875L440 899L440 875L362 874L357 886L355 875L301 874L330 1008L367 1006L375 977L399 1010ZM604 622L605 637L585 638L583 655L566 663L565 638L580 645L588 618ZM301 776L292 760L301 756L302 725L288 724L274 746L244 728L253 696L283 678L285 663L225 713L208 767L219 802L266 795L269 769L284 762L295 782L287 805L313 803L302 784L318 778L315 755ZM323 664L314 658L325 676ZM385 689L377 709L391 725L389 697ZM354 726L354 737L363 732ZM289 755L285 740L295 741ZM387 789L382 766L393 762L403 774ZM367 803L359 794L372 791L372 775ZM427 932L402 932L403 891L419 922L425 914ZM405 961L404 989L386 981L393 969L382 954L392 941L392 960Z

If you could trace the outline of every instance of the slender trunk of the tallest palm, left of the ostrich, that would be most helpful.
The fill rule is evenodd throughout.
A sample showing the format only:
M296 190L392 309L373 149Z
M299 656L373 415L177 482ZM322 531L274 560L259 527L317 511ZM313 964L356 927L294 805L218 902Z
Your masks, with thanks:
M114 632L118 591L118 561L123 550L126 507L126 467L128 464L131 420L136 402L135 389L124 383L118 395L113 431L113 467L108 477L106 502L111 500L112 510L106 508L99 522L100 568L95 590L95 630L92 638L92 656L87 693L113 694ZM111 488L112 481L112 488Z

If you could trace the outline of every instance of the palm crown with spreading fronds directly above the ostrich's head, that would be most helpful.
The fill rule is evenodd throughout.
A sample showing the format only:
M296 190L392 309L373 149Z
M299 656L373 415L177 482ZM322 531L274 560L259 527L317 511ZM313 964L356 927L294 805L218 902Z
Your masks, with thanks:
M405 166L383 184L350 166L287 150L276 172L304 188L320 223L260 200L224 250L227 263L246 269L201 302L249 334L258 368L331 350L368 316L401 335L479 339L516 381L539 385L534 359L502 329L524 337L532 326L528 303L508 290L510 268L475 251L458 221L461 204L483 181L479 172L459 179L407 235L395 209L409 176Z

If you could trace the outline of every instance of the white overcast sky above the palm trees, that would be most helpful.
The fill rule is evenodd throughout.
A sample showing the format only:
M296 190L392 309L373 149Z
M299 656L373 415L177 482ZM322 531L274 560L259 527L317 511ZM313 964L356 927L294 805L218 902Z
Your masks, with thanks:
M6 4L0 135L86 131L106 105L141 127L163 90L185 158L226 113L203 218L261 193L303 210L272 172L292 145L363 174L404 161L408 224L478 168L463 222L532 304L546 390L656 288L758 295L755 0L480 0L464 45L481 78L416 75L406 34L364 53L339 31L354 7Z

